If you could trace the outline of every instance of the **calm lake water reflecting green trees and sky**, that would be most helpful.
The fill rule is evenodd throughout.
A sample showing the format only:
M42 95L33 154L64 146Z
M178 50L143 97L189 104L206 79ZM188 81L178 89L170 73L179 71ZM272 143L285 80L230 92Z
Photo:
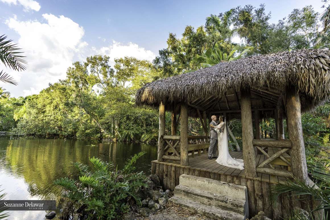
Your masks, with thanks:
M77 140L0 138L0 190L6 200L55 199L55 179L76 174L72 163L89 164L95 156L122 168L136 153L147 153L138 160L136 171L151 172L157 147L132 143L93 143ZM90 164L89 164L90 165ZM56 203L57 209L60 206ZM58 212L58 210L57 210ZM46 211L9 211L8 219L45 219ZM59 215L57 215L58 217ZM54 219L57 219L56 217Z

